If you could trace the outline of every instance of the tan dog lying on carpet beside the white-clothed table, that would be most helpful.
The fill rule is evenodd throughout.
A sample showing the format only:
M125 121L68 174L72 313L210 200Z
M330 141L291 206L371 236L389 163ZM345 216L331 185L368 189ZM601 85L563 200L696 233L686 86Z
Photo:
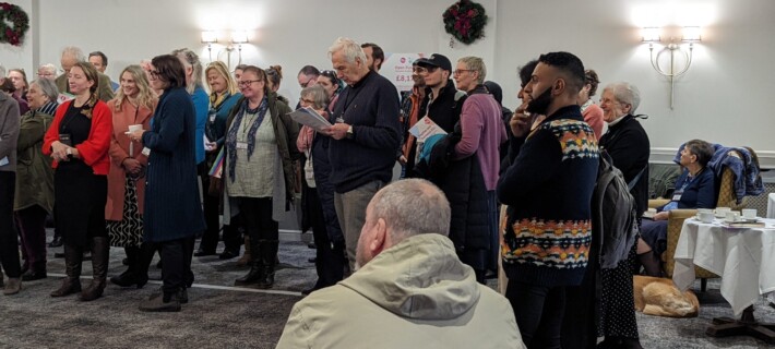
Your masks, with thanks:
M696 317L700 301L694 292L681 293L671 279L635 275L632 278L635 310L648 315Z

